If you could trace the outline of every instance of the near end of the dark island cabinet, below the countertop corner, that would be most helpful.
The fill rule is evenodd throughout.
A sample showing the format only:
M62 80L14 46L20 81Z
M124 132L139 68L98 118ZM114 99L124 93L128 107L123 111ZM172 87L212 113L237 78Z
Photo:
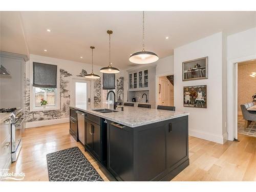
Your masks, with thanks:
M133 128L108 121L108 169L117 180L170 181L188 165L188 116Z

